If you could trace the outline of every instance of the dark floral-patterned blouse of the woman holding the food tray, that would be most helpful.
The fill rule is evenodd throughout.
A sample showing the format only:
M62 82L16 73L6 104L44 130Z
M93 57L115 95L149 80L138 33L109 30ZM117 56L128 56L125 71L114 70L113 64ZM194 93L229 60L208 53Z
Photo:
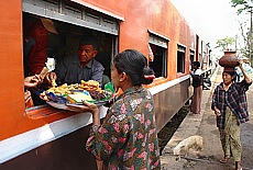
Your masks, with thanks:
M154 101L143 87L130 88L109 107L86 144L106 169L161 169Z

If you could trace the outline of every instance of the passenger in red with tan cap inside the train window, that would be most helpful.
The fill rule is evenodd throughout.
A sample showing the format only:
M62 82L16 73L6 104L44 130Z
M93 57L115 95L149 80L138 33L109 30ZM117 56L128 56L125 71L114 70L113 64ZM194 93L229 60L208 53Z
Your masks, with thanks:
M23 49L25 77L41 73L47 61L48 35L58 34L52 20L45 18L33 20L29 19L30 22L24 23L26 24Z

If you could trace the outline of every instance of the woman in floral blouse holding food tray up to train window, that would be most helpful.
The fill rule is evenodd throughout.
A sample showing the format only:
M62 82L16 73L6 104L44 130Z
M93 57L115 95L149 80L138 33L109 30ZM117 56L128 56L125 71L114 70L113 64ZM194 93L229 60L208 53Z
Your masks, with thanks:
M161 169L154 100L142 84L153 82L154 71L146 57L135 49L127 49L113 58L111 79L117 97L100 124L96 104L70 106L92 113L92 126L86 149L105 169Z

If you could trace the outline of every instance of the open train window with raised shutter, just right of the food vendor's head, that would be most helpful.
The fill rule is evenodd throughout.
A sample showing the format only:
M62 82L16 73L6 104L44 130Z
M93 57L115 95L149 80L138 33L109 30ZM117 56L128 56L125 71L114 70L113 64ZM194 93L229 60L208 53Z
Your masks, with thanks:
M167 77L167 46L168 39L152 31L150 33L148 48L153 54L150 59L150 67L154 70L155 77Z

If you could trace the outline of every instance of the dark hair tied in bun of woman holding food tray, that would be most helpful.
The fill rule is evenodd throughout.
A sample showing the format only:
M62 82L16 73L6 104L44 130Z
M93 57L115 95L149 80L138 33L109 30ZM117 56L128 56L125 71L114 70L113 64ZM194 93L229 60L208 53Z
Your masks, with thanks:
M113 58L119 73L125 72L133 86L150 84L153 82L154 71L147 67L146 57L135 49L127 49Z

